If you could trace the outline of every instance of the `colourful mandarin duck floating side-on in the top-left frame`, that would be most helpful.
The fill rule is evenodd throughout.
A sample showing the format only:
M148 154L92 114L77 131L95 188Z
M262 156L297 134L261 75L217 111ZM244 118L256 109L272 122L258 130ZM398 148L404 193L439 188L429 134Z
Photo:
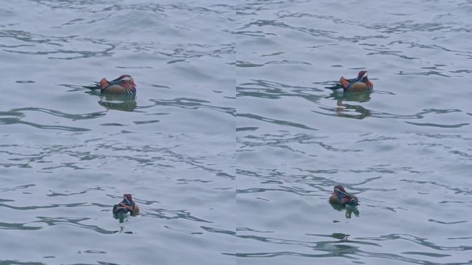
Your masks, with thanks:
M98 84L94 86L83 86L92 90L99 89L102 94L112 95L135 95L136 84L130 75L121 75L117 79L108 81L102 78Z

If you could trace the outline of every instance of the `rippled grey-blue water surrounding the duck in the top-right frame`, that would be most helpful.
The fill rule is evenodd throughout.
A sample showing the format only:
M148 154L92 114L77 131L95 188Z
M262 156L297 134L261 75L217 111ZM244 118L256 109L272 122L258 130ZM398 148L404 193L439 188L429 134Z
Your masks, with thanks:
M471 132L470 1L242 1L239 130ZM332 94L368 70L375 92Z

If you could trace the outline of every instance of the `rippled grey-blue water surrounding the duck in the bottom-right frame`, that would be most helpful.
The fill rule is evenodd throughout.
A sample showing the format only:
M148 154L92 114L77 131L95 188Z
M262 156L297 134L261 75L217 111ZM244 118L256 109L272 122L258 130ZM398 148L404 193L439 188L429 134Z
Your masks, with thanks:
M240 264L471 264L472 138L240 133ZM333 186L359 217L328 204Z

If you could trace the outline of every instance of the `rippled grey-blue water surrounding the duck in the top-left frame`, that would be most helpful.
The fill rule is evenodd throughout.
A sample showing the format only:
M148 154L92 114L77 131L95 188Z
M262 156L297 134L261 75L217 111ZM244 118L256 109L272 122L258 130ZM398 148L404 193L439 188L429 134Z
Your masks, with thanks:
M233 10L217 1L3 3L2 131L233 132ZM81 87L123 74L136 99Z

